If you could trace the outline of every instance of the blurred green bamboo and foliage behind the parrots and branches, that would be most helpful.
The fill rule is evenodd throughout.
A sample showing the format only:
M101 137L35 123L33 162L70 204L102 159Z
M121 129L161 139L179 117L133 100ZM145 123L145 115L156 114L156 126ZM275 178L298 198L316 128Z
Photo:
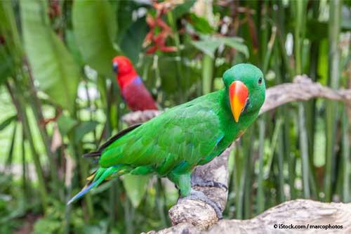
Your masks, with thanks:
M112 58L132 60L161 108L222 89L236 63L267 87L307 74L351 88L350 1L0 1L0 233L140 233L171 226L178 191L124 176L66 206L124 129ZM261 115L230 156L225 219L296 198L351 202L345 103Z

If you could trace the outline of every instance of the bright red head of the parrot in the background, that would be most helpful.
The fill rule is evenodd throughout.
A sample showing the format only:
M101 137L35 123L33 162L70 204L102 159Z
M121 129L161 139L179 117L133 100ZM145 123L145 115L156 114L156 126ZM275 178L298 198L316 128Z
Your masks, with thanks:
M125 56L114 57L112 60L112 68L114 73L116 73L117 82L121 88L138 77L133 63Z

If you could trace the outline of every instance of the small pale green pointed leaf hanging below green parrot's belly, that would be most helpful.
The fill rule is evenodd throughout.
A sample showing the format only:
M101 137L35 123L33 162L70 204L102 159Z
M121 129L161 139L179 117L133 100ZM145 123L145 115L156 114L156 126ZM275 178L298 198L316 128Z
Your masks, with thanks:
M140 202L147 190L147 184L150 181L150 175L147 176L135 176L135 175L124 175L123 184L126 189L128 198L131 200L133 207L138 207Z

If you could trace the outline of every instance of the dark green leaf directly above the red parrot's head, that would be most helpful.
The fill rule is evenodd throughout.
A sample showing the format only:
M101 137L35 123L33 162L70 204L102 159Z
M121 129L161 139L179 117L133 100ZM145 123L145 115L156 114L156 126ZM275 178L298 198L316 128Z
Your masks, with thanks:
M139 53L148 30L145 17L140 18L128 28L121 42L122 51L134 64L138 63Z

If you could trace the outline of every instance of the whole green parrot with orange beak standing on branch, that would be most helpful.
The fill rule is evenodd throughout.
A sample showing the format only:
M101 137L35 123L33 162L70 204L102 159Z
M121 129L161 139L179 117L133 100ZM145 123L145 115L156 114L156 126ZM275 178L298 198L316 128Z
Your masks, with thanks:
M258 67L238 64L223 74L225 88L166 110L144 124L124 129L95 152L100 168L72 197L79 199L107 178L124 174L157 174L176 184L182 199L202 200L221 217L218 204L191 186L218 186L214 181L192 181L194 167L220 155L258 117L265 101L265 80Z

